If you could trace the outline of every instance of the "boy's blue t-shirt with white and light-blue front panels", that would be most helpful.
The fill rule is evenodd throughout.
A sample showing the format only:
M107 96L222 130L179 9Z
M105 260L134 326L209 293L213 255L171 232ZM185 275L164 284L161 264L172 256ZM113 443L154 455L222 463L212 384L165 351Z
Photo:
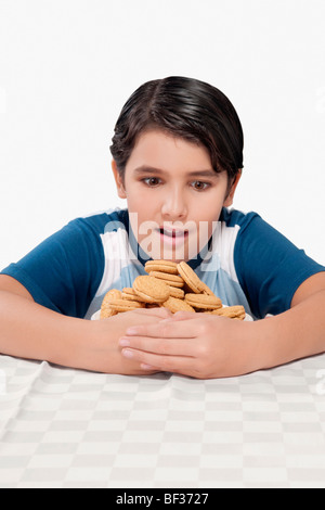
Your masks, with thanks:
M18 280L35 302L90 319L110 289L146 275L127 209L70 221L1 271ZM290 308L298 286L325 271L258 214L223 208L205 248L188 264L224 305L243 305L255 319Z

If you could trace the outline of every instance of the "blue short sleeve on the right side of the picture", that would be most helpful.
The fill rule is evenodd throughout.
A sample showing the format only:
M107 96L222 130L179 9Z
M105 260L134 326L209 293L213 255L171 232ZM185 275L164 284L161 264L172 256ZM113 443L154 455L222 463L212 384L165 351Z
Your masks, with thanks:
M288 310L299 285L325 271L325 267L257 214L251 214L240 227L234 263L240 286L257 318Z

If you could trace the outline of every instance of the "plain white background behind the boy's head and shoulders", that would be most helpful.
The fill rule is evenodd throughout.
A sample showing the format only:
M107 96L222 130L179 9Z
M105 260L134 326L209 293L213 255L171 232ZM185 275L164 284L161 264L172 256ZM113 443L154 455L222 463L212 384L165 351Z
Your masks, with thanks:
M109 144L144 81L220 88L245 131L235 207L325 264L324 0L0 0L0 267L118 206Z

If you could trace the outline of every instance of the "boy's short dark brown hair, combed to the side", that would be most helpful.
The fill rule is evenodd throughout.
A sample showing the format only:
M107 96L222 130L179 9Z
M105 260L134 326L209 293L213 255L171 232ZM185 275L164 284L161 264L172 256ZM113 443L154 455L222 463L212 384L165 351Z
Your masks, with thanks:
M110 145L121 176L136 139L150 129L204 145L213 169L225 170L229 180L243 168L240 120L230 100L209 84L171 76L135 90L121 110Z

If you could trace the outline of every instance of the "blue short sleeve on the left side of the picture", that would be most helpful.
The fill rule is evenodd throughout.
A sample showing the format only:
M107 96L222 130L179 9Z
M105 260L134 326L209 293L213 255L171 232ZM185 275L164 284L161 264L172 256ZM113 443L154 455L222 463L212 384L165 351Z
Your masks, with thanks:
M78 218L1 271L18 280L35 302L83 318L101 282L104 254L91 220Z

